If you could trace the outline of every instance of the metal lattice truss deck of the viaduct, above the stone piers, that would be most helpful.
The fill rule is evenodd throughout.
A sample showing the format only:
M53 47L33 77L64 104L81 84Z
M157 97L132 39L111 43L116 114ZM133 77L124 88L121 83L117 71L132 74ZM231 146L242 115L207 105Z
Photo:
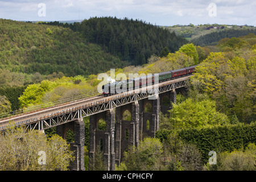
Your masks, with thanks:
M143 88L112 96L90 97L80 101L68 102L61 106L35 111L34 113L3 118L0 120L0 131L6 130L9 123L15 125L15 127L25 126L26 129L45 130L79 118L101 113L114 107L130 104L134 101L145 98L154 99L158 97L158 94L186 86L191 76L167 80L159 84L144 86Z

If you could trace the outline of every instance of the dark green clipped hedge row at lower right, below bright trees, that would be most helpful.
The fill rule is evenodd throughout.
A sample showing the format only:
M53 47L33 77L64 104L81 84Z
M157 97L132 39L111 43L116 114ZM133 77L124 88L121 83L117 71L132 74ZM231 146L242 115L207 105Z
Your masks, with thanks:
M159 130L156 137L167 139L171 130ZM184 129L177 131L185 143L195 144L202 154L204 162L208 162L209 151L223 152L239 150L249 143L256 143L256 124L237 124L213 126L201 129Z

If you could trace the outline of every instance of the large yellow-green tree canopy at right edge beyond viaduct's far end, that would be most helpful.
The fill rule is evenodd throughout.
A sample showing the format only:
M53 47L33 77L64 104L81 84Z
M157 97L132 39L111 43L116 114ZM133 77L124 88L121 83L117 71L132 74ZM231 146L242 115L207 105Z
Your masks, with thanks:
M218 110L243 122L255 121L256 61L253 50L248 51L244 58L210 52L191 77L192 90L208 94Z

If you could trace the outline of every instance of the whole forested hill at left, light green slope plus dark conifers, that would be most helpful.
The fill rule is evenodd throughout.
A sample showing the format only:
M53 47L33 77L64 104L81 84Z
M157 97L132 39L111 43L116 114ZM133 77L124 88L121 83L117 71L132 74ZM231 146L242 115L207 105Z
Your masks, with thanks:
M187 43L163 28L139 20L90 18L82 23L0 20L0 68L11 72L65 76L96 74L146 64L166 47ZM99 46L98 46L99 45Z

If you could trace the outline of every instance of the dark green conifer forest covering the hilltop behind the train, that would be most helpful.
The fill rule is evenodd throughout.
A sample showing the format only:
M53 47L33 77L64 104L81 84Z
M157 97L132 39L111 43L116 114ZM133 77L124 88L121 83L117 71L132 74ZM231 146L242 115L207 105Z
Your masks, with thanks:
M91 43L100 44L102 48L129 61L132 65L146 64L148 57L160 56L167 47L169 52L177 51L187 40L179 38L174 32L143 22L142 20L118 19L113 17L90 18L82 23L49 22L78 31Z

